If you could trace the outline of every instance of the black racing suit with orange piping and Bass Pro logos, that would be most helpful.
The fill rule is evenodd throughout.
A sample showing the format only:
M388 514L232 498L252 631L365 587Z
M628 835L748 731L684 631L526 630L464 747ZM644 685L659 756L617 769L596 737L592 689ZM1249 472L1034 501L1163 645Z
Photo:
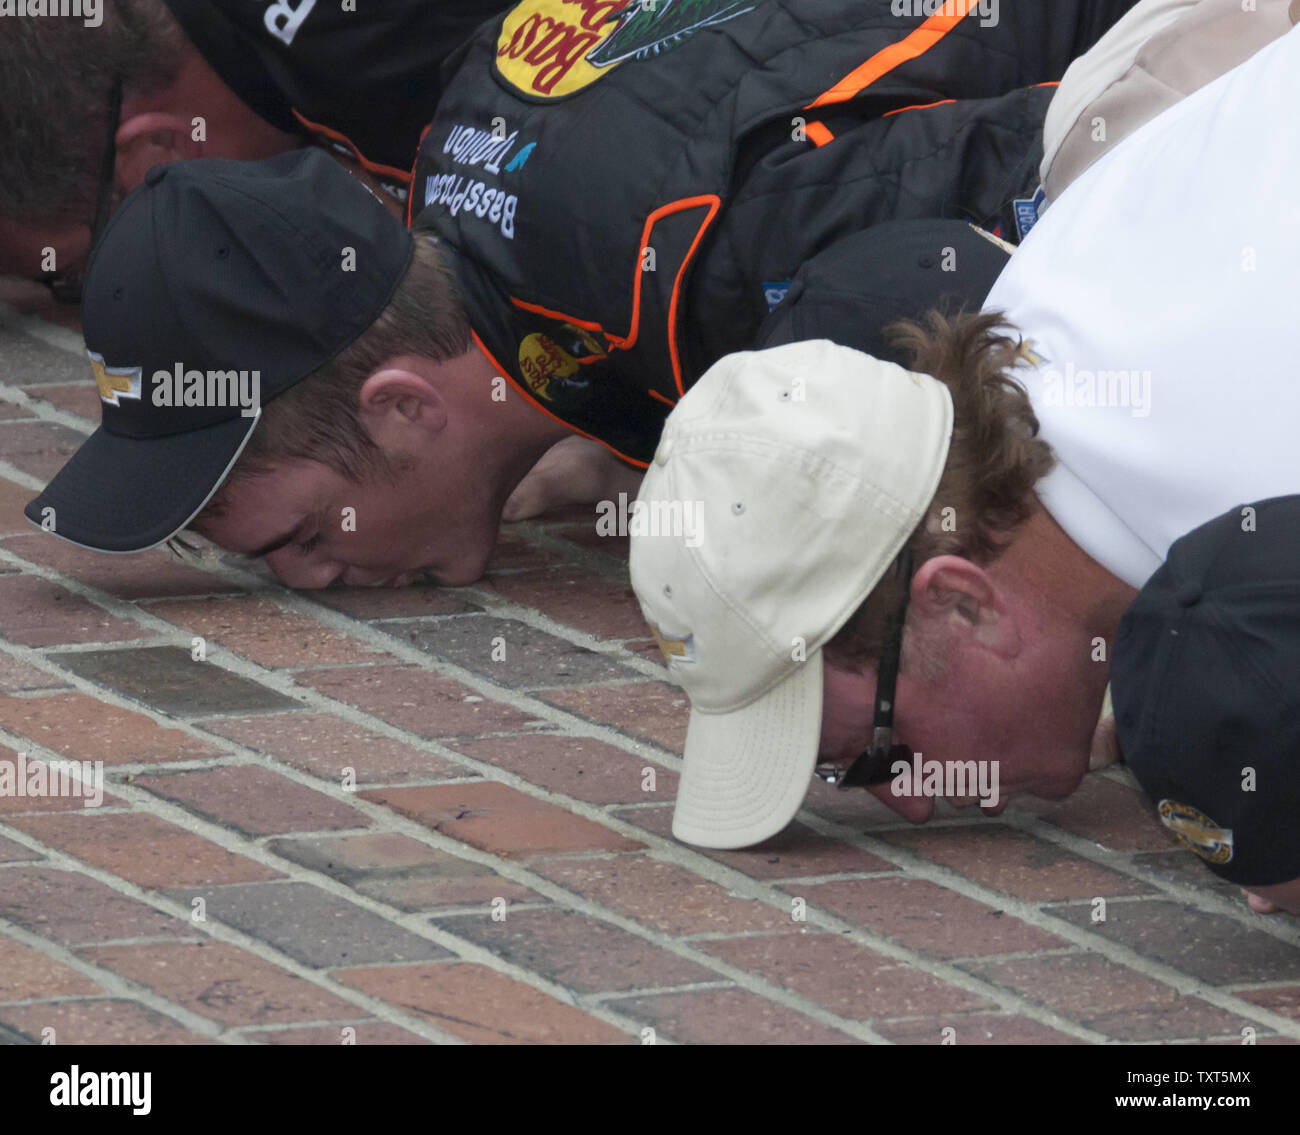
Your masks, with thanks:
M645 463L841 238L1014 239L1054 82L1132 4L524 0L448 60L413 220L502 373Z

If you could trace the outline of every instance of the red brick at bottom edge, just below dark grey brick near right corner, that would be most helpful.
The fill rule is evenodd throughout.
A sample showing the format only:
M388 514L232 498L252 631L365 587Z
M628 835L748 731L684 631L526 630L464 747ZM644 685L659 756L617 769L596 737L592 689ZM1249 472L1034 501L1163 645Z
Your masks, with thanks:
M1097 954L967 966L994 985L1117 1040L1174 1040L1235 1032L1240 1018Z

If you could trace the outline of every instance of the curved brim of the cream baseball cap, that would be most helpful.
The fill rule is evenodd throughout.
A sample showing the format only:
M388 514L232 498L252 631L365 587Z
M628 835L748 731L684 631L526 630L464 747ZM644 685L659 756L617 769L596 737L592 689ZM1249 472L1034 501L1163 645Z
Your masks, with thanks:
M719 849L775 836L803 803L820 741L820 651L744 709L692 710L672 833Z

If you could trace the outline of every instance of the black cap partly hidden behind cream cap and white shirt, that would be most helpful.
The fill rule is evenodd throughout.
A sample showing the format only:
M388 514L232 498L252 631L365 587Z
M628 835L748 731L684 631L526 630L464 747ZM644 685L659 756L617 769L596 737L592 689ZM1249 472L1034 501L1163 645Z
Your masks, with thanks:
M910 364L885 334L930 311L979 311L1014 247L966 221L890 221L836 241L805 264L759 328L755 348L831 339Z

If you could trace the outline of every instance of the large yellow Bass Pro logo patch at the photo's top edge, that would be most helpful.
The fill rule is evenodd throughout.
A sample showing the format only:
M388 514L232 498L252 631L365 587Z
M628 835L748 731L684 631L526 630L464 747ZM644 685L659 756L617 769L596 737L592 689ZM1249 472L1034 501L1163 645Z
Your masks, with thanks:
M763 0L524 0L497 42L497 70L523 95L563 99L629 59L676 47Z

